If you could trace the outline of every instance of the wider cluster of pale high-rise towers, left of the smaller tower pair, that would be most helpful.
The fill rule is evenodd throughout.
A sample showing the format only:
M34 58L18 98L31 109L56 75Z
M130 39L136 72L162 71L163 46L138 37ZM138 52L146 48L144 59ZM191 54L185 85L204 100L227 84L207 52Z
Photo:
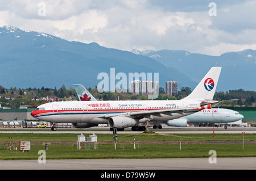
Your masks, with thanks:
M156 81L131 81L131 92L134 95L142 94L154 94L159 89L159 82Z

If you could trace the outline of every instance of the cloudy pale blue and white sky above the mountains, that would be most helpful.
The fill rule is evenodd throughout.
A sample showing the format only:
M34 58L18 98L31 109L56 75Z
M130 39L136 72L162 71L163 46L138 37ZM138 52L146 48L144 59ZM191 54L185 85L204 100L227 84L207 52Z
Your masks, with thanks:
M0 17L0 27L121 50L256 49L252 0L0 0Z

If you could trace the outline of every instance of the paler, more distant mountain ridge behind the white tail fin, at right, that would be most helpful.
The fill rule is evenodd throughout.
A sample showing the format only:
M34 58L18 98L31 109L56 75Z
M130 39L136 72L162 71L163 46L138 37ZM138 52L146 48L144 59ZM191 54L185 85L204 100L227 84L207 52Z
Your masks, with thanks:
M227 52L221 56L208 56L184 50L133 50L135 54L147 56L168 68L174 68L187 75L193 82L199 82L212 66L221 66L217 90L256 90L256 50Z

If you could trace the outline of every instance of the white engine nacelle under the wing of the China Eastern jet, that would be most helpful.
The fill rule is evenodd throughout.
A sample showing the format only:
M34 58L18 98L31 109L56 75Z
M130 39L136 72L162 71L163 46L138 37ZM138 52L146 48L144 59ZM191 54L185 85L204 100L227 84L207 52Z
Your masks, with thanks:
M110 117L109 126L110 128L128 128L134 127L137 124L137 120L130 117Z

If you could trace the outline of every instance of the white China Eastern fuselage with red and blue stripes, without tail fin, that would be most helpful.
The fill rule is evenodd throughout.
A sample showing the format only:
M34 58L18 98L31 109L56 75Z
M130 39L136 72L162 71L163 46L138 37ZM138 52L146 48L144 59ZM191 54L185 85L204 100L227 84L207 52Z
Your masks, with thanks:
M187 111L172 112L170 115L151 115L152 121L167 121L200 110L199 100L125 100L125 101L72 101L46 103L31 113L36 119L54 123L92 123L107 124L108 119L102 117L106 114L129 113L136 111L177 110L187 108ZM191 110L189 110L191 108Z

